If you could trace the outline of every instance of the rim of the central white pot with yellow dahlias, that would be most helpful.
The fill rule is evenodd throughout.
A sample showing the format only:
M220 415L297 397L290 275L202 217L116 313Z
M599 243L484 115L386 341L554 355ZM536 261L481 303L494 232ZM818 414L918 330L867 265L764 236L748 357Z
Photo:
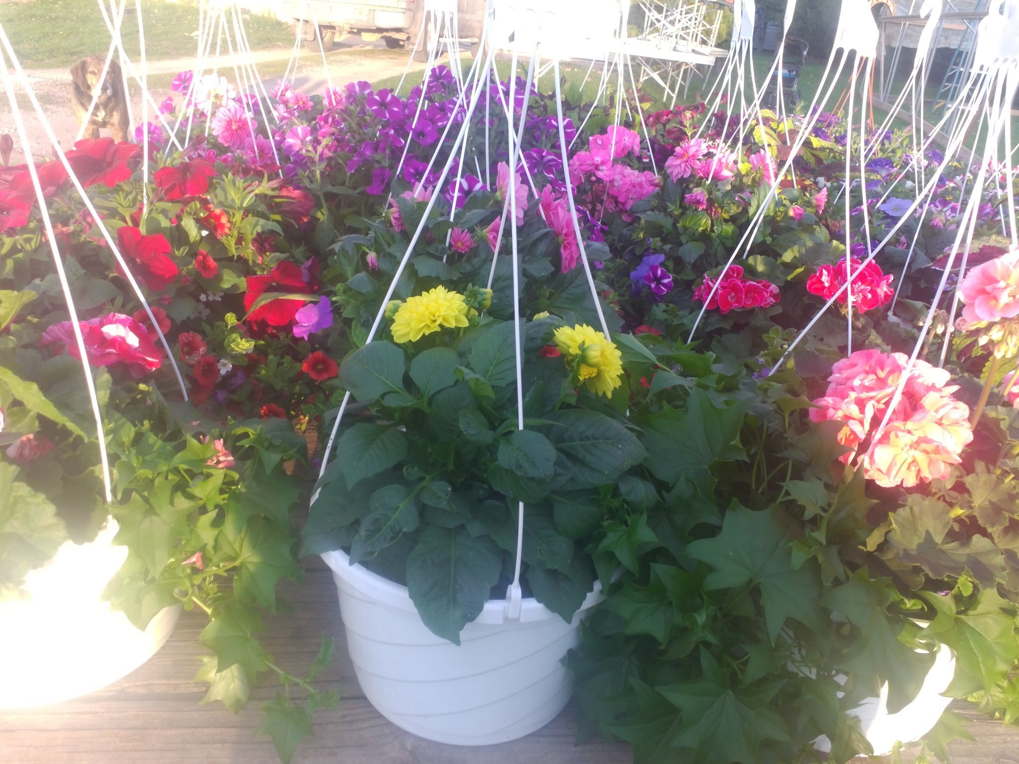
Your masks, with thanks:
M360 563L352 565L350 555L347 555L342 549L336 549L331 552L323 552L321 557L338 579L348 583L360 593L373 597L389 607L413 612L417 615L418 608L415 607L414 601L411 599L411 595L407 587L389 581L388 579L384 579L378 574L372 572ZM598 604L602 599L604 599L604 597L601 594L601 584L595 580L593 590L588 592L587 597L584 598L584 602L581 603L577 612L580 613L594 607L594 605ZM557 613L549 610L534 597L525 597L521 603L519 618L521 622L534 622L558 617L559 615ZM488 600L485 603L484 608L482 608L482 611L478 614L478 617L472 622L504 623L507 620L518 619L508 618L506 616L506 601L504 599L500 599Z

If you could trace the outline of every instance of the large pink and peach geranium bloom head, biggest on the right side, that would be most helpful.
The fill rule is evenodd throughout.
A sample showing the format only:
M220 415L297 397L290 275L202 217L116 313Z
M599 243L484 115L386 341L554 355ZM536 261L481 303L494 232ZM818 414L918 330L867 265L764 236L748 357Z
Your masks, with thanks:
M851 450L840 460L849 463L859 455L864 475L886 488L949 478L973 439L969 406L952 397L959 389L948 384L952 375L920 360L913 363L888 426L874 437L908 363L901 352L857 350L832 368L827 392L810 411L813 422L846 423L838 440Z

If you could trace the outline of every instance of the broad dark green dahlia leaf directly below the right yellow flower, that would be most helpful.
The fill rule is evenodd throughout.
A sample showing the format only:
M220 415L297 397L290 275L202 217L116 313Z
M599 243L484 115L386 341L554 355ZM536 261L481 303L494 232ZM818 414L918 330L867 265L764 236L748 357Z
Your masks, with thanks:
M614 483L647 455L644 446L622 423L586 408L564 408L545 416L536 429L548 438L573 475L572 490Z

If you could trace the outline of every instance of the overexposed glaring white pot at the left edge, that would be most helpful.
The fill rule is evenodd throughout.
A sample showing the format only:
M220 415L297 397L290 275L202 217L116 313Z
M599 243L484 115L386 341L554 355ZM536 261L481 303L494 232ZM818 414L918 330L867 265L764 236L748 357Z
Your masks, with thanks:
M94 541L65 542L25 576L22 599L0 601L0 709L76 698L119 679L163 646L180 614L168 607L144 632L102 598L127 557L112 517Z

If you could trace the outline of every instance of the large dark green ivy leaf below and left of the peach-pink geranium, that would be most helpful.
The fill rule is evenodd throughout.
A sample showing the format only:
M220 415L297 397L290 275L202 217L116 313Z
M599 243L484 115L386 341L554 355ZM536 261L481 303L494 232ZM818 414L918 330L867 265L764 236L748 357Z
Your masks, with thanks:
M721 533L687 547L687 554L713 568L704 582L706 589L760 587L771 644L787 618L796 618L815 632L821 627L816 568L809 562L793 566L791 543L797 535L776 508L751 511L737 506L726 512Z

